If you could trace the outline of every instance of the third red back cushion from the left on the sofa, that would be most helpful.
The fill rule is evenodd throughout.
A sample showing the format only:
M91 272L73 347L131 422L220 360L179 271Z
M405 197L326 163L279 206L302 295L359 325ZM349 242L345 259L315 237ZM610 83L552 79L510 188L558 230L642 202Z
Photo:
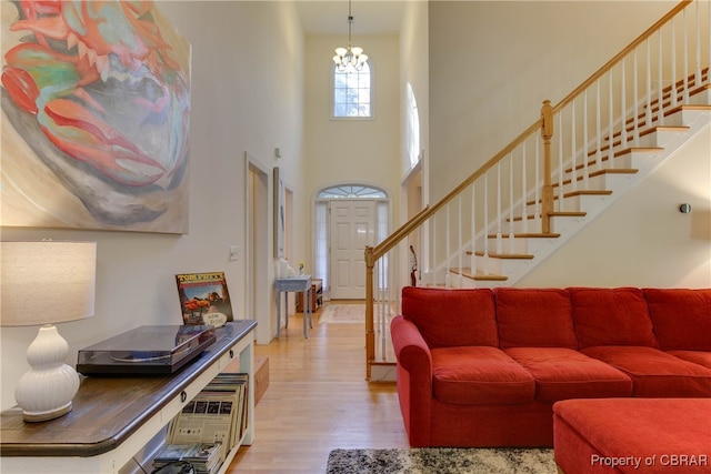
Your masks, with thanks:
M647 301L635 288L570 288L580 347L644 345L657 347Z

